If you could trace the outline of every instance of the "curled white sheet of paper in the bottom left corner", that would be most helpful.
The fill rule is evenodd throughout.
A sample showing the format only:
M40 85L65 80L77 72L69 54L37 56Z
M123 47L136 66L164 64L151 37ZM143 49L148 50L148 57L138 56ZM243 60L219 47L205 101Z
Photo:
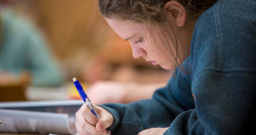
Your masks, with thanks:
M75 134L67 114L0 109L0 132Z

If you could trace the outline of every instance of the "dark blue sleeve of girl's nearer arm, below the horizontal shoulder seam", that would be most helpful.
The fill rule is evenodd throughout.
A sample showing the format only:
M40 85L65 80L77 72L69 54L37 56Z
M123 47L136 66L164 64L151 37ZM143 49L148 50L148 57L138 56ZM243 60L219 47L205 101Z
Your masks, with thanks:
M192 83L196 109L181 113L164 135L246 134L252 131L254 71L205 70Z

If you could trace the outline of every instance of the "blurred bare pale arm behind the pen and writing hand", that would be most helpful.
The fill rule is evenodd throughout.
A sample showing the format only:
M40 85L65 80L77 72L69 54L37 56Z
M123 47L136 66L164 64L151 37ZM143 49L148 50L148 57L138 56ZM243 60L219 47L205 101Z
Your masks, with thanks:
M162 83L137 84L111 81L98 81L86 89L86 93L94 104L130 103L152 97ZM99 95L99 93L101 93ZM116 95L113 97L113 95Z

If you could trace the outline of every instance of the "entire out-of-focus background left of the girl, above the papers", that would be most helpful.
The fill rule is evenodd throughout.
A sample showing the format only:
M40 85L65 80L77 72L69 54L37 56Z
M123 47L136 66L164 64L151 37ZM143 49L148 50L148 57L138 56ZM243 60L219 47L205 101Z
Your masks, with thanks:
M0 0L0 101L150 98L172 71L135 59L96 0Z

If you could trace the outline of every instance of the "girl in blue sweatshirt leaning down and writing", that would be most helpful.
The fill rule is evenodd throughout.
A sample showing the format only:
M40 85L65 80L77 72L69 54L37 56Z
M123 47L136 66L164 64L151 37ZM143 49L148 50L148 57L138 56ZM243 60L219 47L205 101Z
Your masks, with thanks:
M99 121L83 105L76 113L79 134L255 132L255 0L98 2L135 58L178 68L152 99L95 106Z

